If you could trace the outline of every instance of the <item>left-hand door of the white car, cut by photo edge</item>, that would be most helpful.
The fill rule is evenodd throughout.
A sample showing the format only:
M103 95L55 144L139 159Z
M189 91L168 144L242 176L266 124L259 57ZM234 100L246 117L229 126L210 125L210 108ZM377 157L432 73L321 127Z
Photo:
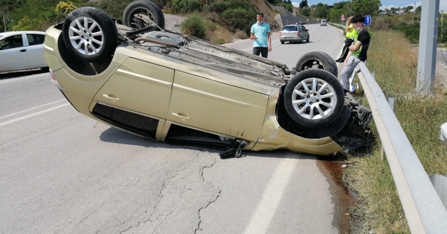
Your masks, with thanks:
M10 45L6 45L7 40L10 40ZM0 72L28 68L27 54L22 52L22 47L15 47L14 40L16 42L22 40L22 35L8 36L0 42L0 45L2 45L0 48Z

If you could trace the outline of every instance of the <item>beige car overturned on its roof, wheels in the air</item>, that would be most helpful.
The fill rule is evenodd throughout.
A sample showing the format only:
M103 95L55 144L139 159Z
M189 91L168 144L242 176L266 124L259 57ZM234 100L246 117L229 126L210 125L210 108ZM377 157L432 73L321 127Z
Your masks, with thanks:
M122 23L123 22L123 23ZM73 10L45 36L52 82L80 113L156 141L328 155L368 141L370 111L346 102L323 52L289 69L164 30L160 8L134 1L123 21Z

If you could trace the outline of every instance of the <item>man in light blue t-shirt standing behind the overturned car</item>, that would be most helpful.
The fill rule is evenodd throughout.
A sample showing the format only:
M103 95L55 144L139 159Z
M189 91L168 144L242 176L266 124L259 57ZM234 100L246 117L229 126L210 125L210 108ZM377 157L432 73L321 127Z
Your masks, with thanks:
M264 14L256 15L256 23L251 26L250 39L253 42L253 54L267 58L268 52L272 51L272 38L270 37L270 26L263 22Z

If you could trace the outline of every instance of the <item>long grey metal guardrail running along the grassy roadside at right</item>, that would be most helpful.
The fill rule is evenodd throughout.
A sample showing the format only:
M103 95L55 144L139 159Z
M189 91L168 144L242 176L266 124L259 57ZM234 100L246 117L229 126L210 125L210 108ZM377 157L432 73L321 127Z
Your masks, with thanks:
M358 67L358 77L371 107L411 233L447 233L447 210L441 198L379 84L365 63L360 62Z

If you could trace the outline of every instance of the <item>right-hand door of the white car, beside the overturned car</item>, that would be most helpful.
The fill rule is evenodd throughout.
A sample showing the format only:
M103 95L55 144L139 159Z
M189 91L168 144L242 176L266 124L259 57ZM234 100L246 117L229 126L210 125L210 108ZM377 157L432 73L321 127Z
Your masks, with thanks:
M24 36L24 50L27 54L29 68L45 68L47 63L43 57L43 40L45 35L27 33Z

